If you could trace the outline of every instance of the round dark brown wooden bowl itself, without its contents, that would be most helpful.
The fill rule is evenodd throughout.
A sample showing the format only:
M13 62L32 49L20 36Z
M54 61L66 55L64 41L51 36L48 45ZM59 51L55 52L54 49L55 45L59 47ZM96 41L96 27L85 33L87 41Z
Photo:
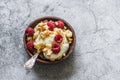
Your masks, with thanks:
M61 19L61 18L54 17L54 16L47 16L47 17L38 18L38 19L34 20L32 23L30 23L28 27L34 28L39 22L44 21L44 20L53 20L53 21L61 20L61 21L64 22L65 26L66 26L70 31L72 31L72 33L73 33L73 37L72 37L72 38L73 38L73 41L72 41L72 43L70 44L70 47L69 47L69 49L68 49L65 57L61 58L60 60L55 60L55 61L49 61L49 60L47 60L47 59L42 59L42 58L40 58L40 57L37 58L37 61L38 61L38 62L44 63L44 64L52 64L52 63L61 62L61 61L65 60L66 58L68 58L69 55L73 53L73 50L74 50L75 44L76 44L75 32L74 32L72 26L71 26L68 22L66 22L65 20L63 20L63 19ZM33 56L33 53L30 52L30 51L27 49L27 47L26 47L26 42L27 42L27 41L26 41L26 36L25 36L25 33L24 33L24 47L25 47L26 52L27 52L27 53L29 54L29 56L31 57L31 56Z

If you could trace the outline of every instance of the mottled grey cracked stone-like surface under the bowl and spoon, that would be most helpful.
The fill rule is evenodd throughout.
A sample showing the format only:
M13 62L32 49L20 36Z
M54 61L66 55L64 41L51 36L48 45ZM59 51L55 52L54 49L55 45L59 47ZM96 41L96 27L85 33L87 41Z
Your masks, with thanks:
M24 29L48 15L74 27L75 52L26 71ZM0 0L0 80L120 80L120 0Z

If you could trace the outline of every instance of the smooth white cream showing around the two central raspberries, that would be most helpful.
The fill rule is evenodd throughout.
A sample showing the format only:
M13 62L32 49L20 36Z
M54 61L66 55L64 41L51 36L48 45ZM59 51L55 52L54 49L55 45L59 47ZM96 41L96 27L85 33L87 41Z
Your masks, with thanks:
M54 42L54 37L55 37L55 34L51 35L50 37L48 37L44 40L44 43L45 44L52 44ZM63 37L63 41L62 41L62 44L60 46L59 53L57 53L57 54L52 53L51 55L47 55L48 53L44 52L43 54L44 54L46 59L54 61L56 59L61 59L65 55L65 53L67 52L68 48L69 48L68 41L67 41L66 37ZM51 50L51 49L49 49L49 50Z

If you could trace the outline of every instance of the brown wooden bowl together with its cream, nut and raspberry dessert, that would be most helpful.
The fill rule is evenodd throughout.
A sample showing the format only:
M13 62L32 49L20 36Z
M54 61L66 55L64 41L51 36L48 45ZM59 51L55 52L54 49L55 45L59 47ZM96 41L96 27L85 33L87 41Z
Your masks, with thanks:
M75 47L75 32L58 17L43 17L33 21L24 33L24 46L30 56L39 53L37 61L57 63L66 59Z

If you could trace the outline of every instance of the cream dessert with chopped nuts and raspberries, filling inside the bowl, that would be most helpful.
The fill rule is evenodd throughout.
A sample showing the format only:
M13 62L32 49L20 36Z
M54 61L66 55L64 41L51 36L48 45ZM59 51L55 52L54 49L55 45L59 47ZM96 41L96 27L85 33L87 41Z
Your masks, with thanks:
M26 29L27 48L36 50L45 59L55 61L66 56L72 42L72 32L67 29L64 22L41 21L34 29Z

